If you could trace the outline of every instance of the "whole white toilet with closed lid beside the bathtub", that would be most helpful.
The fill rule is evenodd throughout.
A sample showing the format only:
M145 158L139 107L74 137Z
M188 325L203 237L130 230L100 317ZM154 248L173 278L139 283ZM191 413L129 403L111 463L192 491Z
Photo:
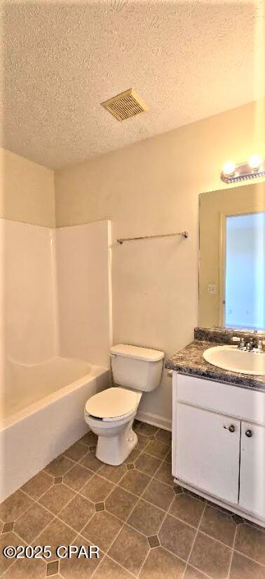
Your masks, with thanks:
M118 344L111 347L114 383L86 402L85 420L97 434L96 457L107 465L121 465L137 444L132 423L142 392L155 390L161 381L164 352Z

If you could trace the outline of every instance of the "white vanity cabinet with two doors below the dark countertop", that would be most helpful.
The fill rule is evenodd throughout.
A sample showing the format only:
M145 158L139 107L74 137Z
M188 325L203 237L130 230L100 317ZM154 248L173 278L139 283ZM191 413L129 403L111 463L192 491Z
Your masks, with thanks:
M172 474L265 525L265 393L174 371Z

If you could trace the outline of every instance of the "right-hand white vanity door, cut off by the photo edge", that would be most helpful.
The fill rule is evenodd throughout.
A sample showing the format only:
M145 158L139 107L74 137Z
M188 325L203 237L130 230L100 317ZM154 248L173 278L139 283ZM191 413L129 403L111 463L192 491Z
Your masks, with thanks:
M239 505L265 519L265 427L242 422Z

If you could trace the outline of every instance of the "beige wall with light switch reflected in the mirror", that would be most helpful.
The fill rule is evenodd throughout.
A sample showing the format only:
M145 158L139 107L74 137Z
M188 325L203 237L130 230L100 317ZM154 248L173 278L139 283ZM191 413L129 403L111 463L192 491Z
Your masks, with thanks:
M224 277L220 271L220 239L222 215L265 211L265 182L241 185L204 193L200 197L200 288L199 324L212 327L222 325ZM221 260L221 261L220 261ZM209 294L208 284L217 285L217 293Z

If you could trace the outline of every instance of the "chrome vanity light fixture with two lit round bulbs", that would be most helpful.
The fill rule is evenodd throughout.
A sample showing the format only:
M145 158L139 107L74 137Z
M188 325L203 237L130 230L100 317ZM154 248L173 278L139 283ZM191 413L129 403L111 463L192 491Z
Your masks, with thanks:
M265 177L264 159L261 159L257 154L252 155L248 161L238 165L228 161L224 164L221 173L221 179L225 183L236 183L257 177Z

